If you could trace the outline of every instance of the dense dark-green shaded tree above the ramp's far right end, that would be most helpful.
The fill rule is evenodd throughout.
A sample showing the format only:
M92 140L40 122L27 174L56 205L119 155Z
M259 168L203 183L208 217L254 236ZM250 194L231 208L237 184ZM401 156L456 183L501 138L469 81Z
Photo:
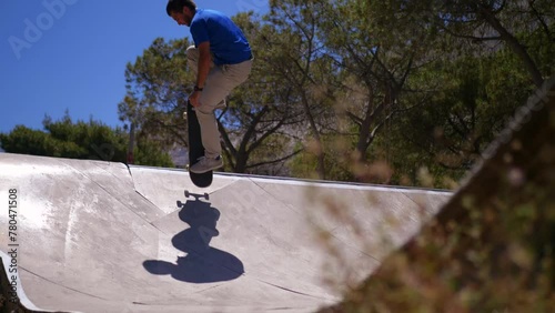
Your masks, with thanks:
M514 67L517 62L512 53L500 51L488 57L438 61L415 74L414 81L433 77L443 85L426 105L408 111L392 124L391 161L397 172L394 182L402 176L417 182L418 170L426 168L436 180L434 186L446 188L443 181L457 181L471 170L531 92L527 73ZM407 166L410 163L413 165Z

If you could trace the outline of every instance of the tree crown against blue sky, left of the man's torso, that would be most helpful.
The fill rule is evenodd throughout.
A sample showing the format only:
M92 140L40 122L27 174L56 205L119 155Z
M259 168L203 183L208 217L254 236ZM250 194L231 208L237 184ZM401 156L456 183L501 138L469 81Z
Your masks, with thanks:
M186 39L155 39L134 63L125 69L127 95L119 104L120 120L133 124L143 138L164 149L188 145L183 120L192 74L186 72Z

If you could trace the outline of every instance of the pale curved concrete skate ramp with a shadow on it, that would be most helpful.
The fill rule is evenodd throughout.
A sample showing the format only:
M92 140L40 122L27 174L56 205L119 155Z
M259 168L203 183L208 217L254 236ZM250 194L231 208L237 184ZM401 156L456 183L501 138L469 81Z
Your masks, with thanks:
M9 153L0 178L20 297L77 312L313 312L451 196L229 174L200 190L184 171Z

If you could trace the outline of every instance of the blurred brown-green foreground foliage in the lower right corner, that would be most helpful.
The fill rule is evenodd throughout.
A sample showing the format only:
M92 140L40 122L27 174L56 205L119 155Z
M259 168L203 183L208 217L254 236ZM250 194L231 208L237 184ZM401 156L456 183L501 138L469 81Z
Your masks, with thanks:
M415 239L320 312L553 312L555 145L546 111L503 142Z

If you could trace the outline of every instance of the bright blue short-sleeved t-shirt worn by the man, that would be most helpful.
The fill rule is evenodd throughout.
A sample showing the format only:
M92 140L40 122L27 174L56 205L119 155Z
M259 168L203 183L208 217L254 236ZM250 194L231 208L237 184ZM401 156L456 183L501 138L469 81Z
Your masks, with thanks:
M191 21L194 44L210 41L214 64L238 64L252 58L251 47L241 29L225 14L196 9Z

